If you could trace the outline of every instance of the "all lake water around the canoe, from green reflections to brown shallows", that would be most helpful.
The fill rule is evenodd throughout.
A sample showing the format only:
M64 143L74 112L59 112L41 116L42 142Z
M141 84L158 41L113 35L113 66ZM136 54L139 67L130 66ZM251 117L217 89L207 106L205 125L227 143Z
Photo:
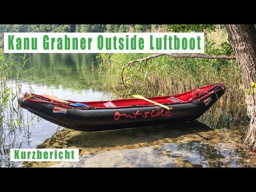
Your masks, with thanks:
M29 54L22 92L48 93L76 101L115 97L96 72L96 54ZM12 71L15 74L15 70ZM220 112L218 102L198 121L106 132L78 132L22 110L22 128L1 134L2 167L236 167L255 166L254 153L242 146L245 109ZM224 115L222 113L228 113ZM80 161L10 162L10 148L80 149Z

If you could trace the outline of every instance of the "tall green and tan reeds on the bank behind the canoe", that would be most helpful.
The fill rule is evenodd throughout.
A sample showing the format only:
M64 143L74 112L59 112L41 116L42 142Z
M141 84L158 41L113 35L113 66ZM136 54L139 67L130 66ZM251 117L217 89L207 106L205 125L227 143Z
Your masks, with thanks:
M121 71L128 61L143 58L147 54L100 54L99 71L105 76L104 86L122 93L124 90ZM142 63L132 81L132 75L138 70L139 63L133 64L128 72L126 90L131 94L144 92L145 96L171 95L185 92L200 86L222 82L227 87L227 99L236 99L243 94L238 92L241 77L238 64L234 60L216 61L206 59L170 58L162 56Z

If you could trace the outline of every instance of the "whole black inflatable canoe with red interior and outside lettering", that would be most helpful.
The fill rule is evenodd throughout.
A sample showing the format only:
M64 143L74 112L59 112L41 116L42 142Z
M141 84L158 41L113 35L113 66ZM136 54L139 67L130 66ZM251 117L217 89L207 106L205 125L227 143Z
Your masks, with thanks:
M29 93L18 98L18 103L37 116L66 128L104 131L189 122L204 114L224 92L224 85L216 83L182 94L148 98L172 110L137 98L79 102L88 106L79 108ZM68 102L77 103L71 100Z

